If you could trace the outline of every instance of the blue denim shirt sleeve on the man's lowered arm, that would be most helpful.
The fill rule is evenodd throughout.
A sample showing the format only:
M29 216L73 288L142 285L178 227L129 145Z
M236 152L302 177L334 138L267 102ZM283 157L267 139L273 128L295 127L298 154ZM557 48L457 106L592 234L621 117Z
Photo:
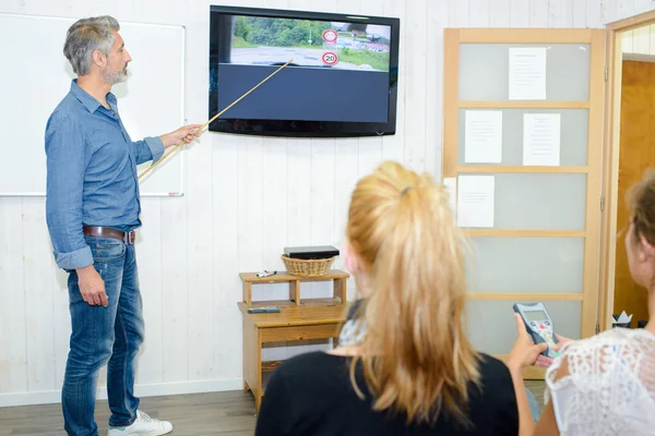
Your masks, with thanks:
M64 269L93 265L82 233L82 196L87 166L82 128L69 117L46 129L46 221L57 265Z

